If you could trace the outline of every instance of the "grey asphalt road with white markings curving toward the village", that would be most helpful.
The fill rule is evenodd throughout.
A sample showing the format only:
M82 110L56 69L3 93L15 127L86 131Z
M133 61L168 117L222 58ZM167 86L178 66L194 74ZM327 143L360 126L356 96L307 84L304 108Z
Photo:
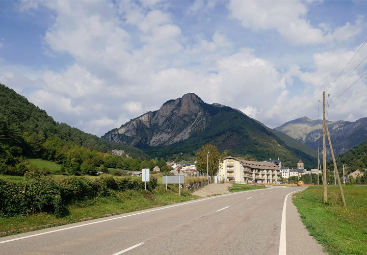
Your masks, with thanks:
M292 194L283 215L286 195L303 189L229 193L4 237L0 254L325 254Z

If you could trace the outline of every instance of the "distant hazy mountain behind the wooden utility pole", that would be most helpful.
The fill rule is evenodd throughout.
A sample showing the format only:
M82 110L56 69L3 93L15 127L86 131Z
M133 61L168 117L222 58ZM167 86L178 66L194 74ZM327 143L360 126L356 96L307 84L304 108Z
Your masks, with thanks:
M358 144L367 141L367 118L354 122L338 120L327 121L330 139L335 157L344 154ZM322 149L322 120L312 120L307 117L288 121L275 130L287 134L307 146L317 150ZM326 139L327 140L327 139ZM328 142L326 142L328 148ZM330 156L330 150L327 149Z

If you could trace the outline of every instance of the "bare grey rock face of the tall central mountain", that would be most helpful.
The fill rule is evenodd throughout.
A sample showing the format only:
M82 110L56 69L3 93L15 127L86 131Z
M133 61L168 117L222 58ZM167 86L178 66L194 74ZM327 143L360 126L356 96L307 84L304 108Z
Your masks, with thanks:
M102 138L137 147L171 145L204 130L210 117L205 103L193 93L169 100L158 110L147 112L112 130Z

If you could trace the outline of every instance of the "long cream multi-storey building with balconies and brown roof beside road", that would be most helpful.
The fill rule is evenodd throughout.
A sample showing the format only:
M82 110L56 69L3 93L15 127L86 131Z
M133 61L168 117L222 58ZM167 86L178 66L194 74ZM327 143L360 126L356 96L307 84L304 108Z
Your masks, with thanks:
M272 162L239 160L233 157L223 159L219 178L235 183L280 183L280 167Z

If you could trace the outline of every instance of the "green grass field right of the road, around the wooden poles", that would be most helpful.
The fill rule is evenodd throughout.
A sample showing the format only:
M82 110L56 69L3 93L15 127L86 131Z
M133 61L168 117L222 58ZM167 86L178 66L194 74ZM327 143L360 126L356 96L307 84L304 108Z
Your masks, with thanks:
M337 186L308 187L293 196L303 224L329 254L367 254L367 187L343 186L347 207L343 207Z

